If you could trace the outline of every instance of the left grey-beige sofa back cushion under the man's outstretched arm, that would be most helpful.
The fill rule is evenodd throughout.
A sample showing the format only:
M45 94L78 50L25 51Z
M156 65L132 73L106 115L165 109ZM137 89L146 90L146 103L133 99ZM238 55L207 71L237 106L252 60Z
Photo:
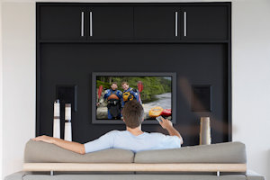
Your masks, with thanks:
M130 150L109 148L85 155L43 141L29 140L24 149L25 163L132 163Z

